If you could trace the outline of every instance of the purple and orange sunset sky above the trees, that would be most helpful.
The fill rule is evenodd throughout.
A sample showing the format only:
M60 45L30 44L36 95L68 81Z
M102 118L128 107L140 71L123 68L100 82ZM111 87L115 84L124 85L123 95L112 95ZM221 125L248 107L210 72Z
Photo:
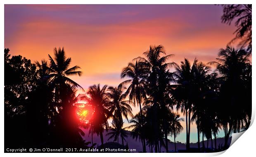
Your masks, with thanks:
M218 5L5 5L5 48L34 62L64 47L71 66L83 71L71 78L85 90L97 83L117 86L122 68L149 45L164 45L175 54L171 62L214 61L235 31L221 15ZM177 141L185 142L183 127ZM196 135L193 124L191 142Z

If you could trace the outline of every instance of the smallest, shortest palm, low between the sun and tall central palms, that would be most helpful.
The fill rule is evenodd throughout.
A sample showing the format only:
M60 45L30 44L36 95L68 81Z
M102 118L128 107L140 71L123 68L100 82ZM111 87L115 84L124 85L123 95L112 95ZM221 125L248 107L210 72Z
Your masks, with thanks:
M112 128L110 129L111 132L107 133L106 135L111 135L109 137L109 139L114 138L114 141L117 141L117 143L119 144L119 136L121 136L121 140L122 140L122 145L124 148L124 143L123 141L126 141L126 137L128 136L128 132L125 130L126 128L123 128L123 123L119 124L119 123L111 123L112 124ZM109 140L108 139L108 140Z

